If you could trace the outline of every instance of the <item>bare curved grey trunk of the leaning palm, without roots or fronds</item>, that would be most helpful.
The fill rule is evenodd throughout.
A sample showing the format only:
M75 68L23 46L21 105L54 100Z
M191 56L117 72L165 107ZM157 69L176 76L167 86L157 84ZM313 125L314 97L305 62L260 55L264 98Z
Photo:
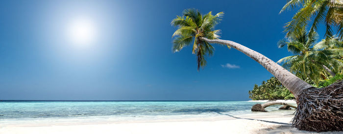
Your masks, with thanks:
M294 95L296 99L298 98L302 90L313 88L312 85L306 83L304 80L299 79L294 74L284 69L279 64L275 63L274 61L272 61L265 55L262 55L256 51L253 51L241 44L238 44L233 41L221 40L221 39L210 40L203 37L200 37L199 39L206 41L208 43L218 43L218 44L230 46L246 54L247 56L251 57L258 63L260 63L264 68L266 68L273 76L275 76L276 79L278 79L282 83L282 85L286 86L287 89L292 92L292 94Z

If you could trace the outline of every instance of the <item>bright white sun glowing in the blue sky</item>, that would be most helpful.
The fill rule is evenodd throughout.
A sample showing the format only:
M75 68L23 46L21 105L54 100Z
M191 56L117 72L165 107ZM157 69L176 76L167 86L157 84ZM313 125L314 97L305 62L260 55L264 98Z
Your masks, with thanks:
M89 19L75 19L68 26L68 38L76 45L89 45L96 39L95 24Z

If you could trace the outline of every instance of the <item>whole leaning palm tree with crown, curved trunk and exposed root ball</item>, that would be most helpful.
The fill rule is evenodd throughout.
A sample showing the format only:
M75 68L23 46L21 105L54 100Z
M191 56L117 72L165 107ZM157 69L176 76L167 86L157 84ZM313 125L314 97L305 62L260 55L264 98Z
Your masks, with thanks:
M293 120L294 127L309 131L343 130L343 89L339 88L343 86L343 82L325 89L316 89L268 57L236 42L219 39L220 30L215 30L215 26L220 22L222 15L222 12L216 15L212 15L211 12L202 15L195 9L186 9L182 16L172 20L172 25L178 28L173 34L173 51L178 52L193 44L192 53L197 56L199 68L205 65L205 56L213 54L213 47L210 44L234 48L260 63L293 93L298 102Z

